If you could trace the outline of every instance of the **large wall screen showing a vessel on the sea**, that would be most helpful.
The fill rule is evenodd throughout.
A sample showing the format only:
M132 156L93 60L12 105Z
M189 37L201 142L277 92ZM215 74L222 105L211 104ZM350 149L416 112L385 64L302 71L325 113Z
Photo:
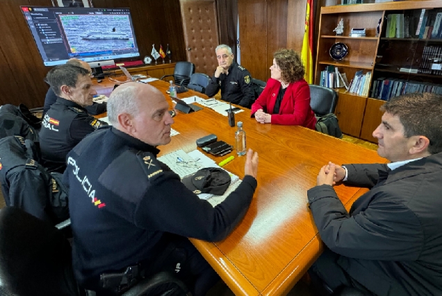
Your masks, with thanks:
M129 8L20 6L45 66L138 57Z

